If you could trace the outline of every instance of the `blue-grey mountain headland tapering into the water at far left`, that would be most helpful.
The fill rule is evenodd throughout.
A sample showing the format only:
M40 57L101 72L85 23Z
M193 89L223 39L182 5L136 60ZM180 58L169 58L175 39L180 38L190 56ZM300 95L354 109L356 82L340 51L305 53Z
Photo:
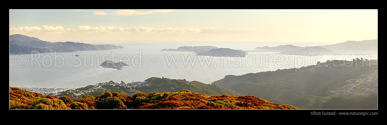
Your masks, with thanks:
M116 45L91 45L87 43L74 42L55 42L42 41L38 38L33 38L21 34L14 34L9 36L10 54L26 53L32 54L35 51L38 53L52 53L57 52L74 52L74 51L89 51L89 50L111 50L123 48L123 46Z

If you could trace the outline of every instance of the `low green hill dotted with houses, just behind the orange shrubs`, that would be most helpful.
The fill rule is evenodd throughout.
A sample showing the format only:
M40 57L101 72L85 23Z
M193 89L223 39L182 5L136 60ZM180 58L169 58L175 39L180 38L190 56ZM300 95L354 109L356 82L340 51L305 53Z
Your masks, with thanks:
M222 86L204 84L198 81L186 81L184 79L168 79L151 77L143 82L132 82L125 84L117 82L104 82L96 85L89 85L78 89L60 92L58 96L70 96L77 98L82 95L98 96L105 91L118 92L122 94L134 95L137 92L178 92L187 89L199 94L243 96L243 94L230 91Z

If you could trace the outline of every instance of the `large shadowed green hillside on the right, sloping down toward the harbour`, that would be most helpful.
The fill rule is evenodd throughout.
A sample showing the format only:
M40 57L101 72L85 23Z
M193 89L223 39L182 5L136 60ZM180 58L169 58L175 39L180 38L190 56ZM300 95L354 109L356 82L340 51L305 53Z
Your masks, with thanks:
M332 62L337 66L335 67ZM351 67L345 66L350 63L355 62L328 60L322 63L327 67L312 65L298 68L297 72L295 72L295 68L292 68L240 76L226 75L224 79L217 80L212 84L223 86L241 94L274 100L276 103L290 102L308 95L325 97L330 91L335 91L337 88L347 85L347 80L355 79L368 71L377 70L377 61L375 60L365 61L365 67L361 67L361 62L358 62L358 67L354 64ZM370 86L363 87L368 88ZM373 88L362 89L363 92L359 91L364 94L374 93L368 93L367 90L369 89ZM307 107L305 105L295 106Z

